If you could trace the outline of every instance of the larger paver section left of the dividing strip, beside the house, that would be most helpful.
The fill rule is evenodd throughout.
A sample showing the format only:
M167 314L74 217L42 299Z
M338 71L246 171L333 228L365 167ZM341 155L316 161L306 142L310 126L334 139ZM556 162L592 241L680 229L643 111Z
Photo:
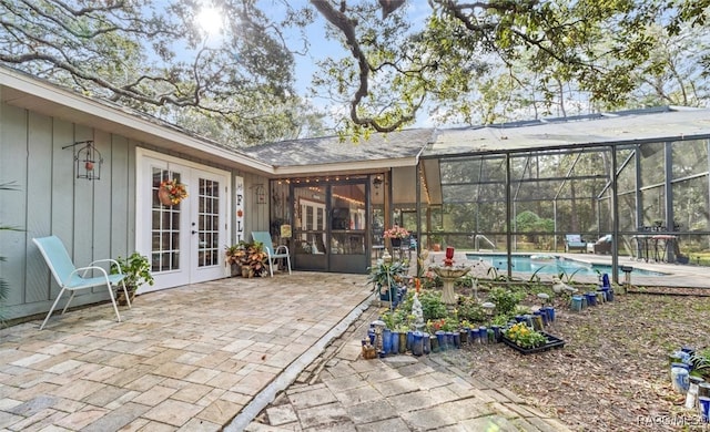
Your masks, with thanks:
M362 275L296 271L0 329L0 430L220 430L369 296Z

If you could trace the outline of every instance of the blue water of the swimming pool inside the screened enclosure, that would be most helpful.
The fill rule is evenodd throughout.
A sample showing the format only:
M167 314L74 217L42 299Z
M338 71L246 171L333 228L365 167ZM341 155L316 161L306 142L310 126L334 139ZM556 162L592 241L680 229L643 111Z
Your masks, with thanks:
M498 270L507 271L508 256L495 254L466 254L466 258L474 261L483 261ZM511 257L513 271L538 272L544 275L598 276L611 274L611 266L604 264L587 264L574 259L561 258L555 255L514 255ZM633 275L639 276L667 276L667 274L633 268ZM619 270L619 276L622 276Z

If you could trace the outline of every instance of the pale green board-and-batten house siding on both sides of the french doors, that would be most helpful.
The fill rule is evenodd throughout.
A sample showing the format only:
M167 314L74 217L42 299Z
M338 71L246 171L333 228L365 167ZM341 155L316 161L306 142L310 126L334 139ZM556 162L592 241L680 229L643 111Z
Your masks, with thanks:
M85 140L93 140L103 156L100 181L75 178L74 150L62 148ZM45 313L59 294L32 245L33 237L59 236L78 266L135 250L136 146L151 147L87 125L0 104L0 184L13 183L17 189L0 191L0 224L23 229L3 230L0 238L0 256L6 257L0 263L1 277L10 288L6 318ZM227 171L244 177L246 233L267 230L270 200L257 204L252 192L255 184L263 184L267 191L268 181ZM229 217L233 224L233 212ZM80 295L72 306L106 298L104 290L97 289Z

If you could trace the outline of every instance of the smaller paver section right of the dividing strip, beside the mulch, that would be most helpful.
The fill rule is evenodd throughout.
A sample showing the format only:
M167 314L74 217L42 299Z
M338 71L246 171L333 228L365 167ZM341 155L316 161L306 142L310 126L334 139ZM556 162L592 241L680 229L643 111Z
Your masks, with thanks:
M445 356L353 358L353 341L358 342L376 312L371 307L341 338L339 349L347 349L348 356L339 356L337 347L324 353L317 362L321 367L312 366L285 391L286 401L278 399L277 405L266 408L246 430L349 430L354 424L358 432L569 431L516 393L462 371ZM310 393L317 394L310 399L313 404L316 400L326 404L296 402L298 394ZM288 416L282 420L280 412Z

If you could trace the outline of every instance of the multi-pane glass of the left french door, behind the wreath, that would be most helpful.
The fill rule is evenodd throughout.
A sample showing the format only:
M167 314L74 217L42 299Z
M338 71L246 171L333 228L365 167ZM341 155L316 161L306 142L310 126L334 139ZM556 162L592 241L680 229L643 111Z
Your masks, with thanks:
M180 214L182 204L163 205L158 198L160 184L166 179L180 179L180 173L152 168L153 205L151 207L151 270L170 271L180 269Z

